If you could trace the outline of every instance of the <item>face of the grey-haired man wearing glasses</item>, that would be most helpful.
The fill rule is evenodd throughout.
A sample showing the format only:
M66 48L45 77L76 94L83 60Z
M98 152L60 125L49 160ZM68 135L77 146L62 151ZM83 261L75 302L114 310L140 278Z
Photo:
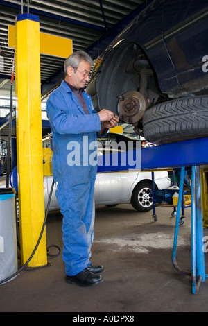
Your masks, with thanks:
M73 69L71 66L68 67L65 79L73 87L78 89L84 88L85 84L89 81L90 69L91 65L89 62L81 61L77 69Z

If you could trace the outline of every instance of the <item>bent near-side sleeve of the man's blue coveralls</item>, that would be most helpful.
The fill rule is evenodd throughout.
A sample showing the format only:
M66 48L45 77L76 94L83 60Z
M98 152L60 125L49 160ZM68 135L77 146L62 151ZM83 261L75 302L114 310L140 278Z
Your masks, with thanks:
M71 114L62 96L51 94L46 103L46 112L53 132L59 134L81 134L99 132L101 120L97 113Z

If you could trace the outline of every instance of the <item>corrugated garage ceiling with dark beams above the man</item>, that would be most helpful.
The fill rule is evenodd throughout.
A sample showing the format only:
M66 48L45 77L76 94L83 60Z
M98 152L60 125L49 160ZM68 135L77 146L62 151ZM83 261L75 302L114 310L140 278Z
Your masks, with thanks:
M3 67L0 65L0 98L10 94L14 50L8 48L8 25L14 26L15 18L21 12L30 12L39 17L40 32L69 38L73 40L73 51L87 51L96 59L107 44L151 1L0 0L0 56L3 58ZM41 54L40 63L42 95L46 95L62 79L64 58Z

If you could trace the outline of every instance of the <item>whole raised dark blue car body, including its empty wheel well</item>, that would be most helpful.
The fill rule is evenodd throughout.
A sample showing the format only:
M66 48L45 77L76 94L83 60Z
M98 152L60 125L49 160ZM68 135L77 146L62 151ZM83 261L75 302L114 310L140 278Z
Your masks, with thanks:
M144 111L170 99L206 95L207 43L207 0L152 1L98 58L87 92L97 110L115 113L119 101L127 102L122 94L130 91L144 95L148 101ZM147 87L141 85L144 70ZM139 99L128 103L128 108L135 109L134 105L141 105Z

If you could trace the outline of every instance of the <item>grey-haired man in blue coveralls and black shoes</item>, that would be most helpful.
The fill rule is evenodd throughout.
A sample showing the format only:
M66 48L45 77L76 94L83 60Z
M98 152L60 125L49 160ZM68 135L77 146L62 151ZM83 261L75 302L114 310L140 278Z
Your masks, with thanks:
M65 79L49 96L46 112L53 133L55 195L63 215L63 260L66 280L80 286L102 282L103 266L90 262L94 239L96 139L119 118L110 110L96 113L84 91L92 59L83 51L64 62ZM85 140L85 141L83 141ZM87 141L87 143L86 143ZM87 146L86 146L87 144Z

